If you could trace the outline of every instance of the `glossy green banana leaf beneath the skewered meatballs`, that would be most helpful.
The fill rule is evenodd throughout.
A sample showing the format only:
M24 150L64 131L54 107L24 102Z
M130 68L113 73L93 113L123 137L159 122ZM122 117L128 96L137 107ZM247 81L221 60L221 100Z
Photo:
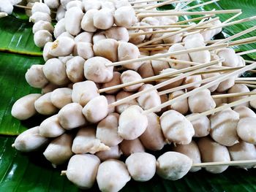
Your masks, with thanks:
M202 1L194 1L193 6ZM188 7L189 7L188 6ZM236 19L254 15L256 0L218 1L197 10L242 9L244 14ZM162 9L172 9L165 6ZM219 15L226 20L231 15ZM189 17L188 17L189 18ZM256 21L238 24L225 28L223 35L233 35L246 28L255 26ZM66 177L60 176L61 169L67 165L53 169L41 152L20 153L11 147L15 135L26 128L39 125L44 116L36 116L20 122L12 118L12 104L28 93L39 93L31 88L24 78L26 70L32 64L43 64L42 50L34 45L32 24L20 9L15 9L12 16L0 19L0 191L79 191ZM252 37L255 32L244 35ZM239 50L251 50L255 44L239 46ZM249 55L252 59L255 54ZM210 174L201 170L189 173L181 180L167 181L159 177L146 183L130 181L122 191L256 191L256 172L253 169L229 168L222 174ZM98 191L97 185L91 191Z

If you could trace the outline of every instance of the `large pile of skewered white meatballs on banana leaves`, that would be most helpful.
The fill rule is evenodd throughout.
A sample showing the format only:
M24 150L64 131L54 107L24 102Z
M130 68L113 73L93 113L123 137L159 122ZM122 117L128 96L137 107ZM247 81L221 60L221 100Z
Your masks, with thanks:
M12 147L16 150L45 149L43 155L53 167L68 162L67 170L61 174L72 183L83 189L97 183L100 191L120 191L131 178L146 182L154 174L178 180L187 172L199 171L200 167L192 165L201 162L256 159L256 114L252 110L256 109L256 100L189 120L195 114L248 97L214 98L225 93L251 92L237 82L238 75L147 112L200 88L205 85L203 80L217 80L225 74L211 72L214 69L245 66L244 58L228 47L182 53L169 57L172 60L136 61L150 55L206 47L206 41L219 34L221 27L170 37L165 36L171 32L134 35L161 31L163 28L153 26L173 25L178 17L141 19L133 6L135 2L127 0L29 0L26 4L31 7L26 13L34 23L34 43L42 47L45 64L32 65L25 78L42 93L15 101L12 116L26 120L41 114L45 120L15 139ZM57 21L55 26L52 20ZM210 24L218 26L221 21ZM152 45L169 44L170 48L140 50L138 45L152 39L158 39ZM120 61L131 62L121 65ZM201 74L178 78L184 74L179 74L180 70L211 61L219 62ZM176 76L151 78L159 74ZM174 77L178 80L161 84ZM154 89L155 85L161 86ZM165 145L170 145L170 151L158 157L152 155ZM125 162L120 158L126 158ZM227 167L209 166L206 170L217 174ZM249 169L252 165L239 167Z

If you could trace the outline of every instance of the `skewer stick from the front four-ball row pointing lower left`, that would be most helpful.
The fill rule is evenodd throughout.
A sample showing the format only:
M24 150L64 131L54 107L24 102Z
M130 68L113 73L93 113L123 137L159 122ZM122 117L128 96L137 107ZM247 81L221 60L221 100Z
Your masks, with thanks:
M222 60L222 61L223 61L223 60ZM206 64L201 64L201 65L200 65L200 68L197 69L197 70L195 70L195 71L187 72L187 73L184 73L184 74L180 74L180 75L178 75L177 77L174 77L174 78L172 78L172 79L170 79L170 80L166 80L166 81L164 81L164 82L160 82L159 84L154 85L154 86L151 87L151 88L148 88L148 89L146 89L146 90L144 90L144 91L140 91L140 92L135 93L135 94L132 94L131 96L127 96L127 97L124 98L124 99L120 99L120 100L118 100L118 101L115 101L115 102L113 102L112 104L109 104L108 106L109 106L109 107L116 107L116 106L118 106L119 104L124 104L124 103L126 103L127 101L130 101L130 100L132 100L132 99L135 99L135 98L137 98L137 97L143 95L144 93L148 93L149 91L157 90L157 89L162 88L162 87L164 87L164 86L166 86L166 85L169 85L170 83L176 82L176 81L178 81L178 80L182 80L182 79L184 79L184 78L186 78L186 77L189 77L189 76L195 74L196 72L200 72L200 71L202 71L203 69L206 69L208 66L212 66L212 65L216 64L217 62L219 62L219 61L217 60L217 61L211 61L211 62L206 63ZM199 65L198 65L198 66L199 66ZM198 66L197 66L197 67L198 67ZM193 66L193 67L196 68L196 66ZM182 70L182 69L181 69L181 70ZM144 111L144 112L146 112L146 111Z

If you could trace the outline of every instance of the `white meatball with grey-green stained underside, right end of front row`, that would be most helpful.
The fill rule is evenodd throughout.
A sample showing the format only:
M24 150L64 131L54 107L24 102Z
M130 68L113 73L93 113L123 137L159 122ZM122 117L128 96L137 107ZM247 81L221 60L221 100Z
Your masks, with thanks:
M179 180L191 169L192 159L177 152L166 152L157 158L157 174L165 180Z

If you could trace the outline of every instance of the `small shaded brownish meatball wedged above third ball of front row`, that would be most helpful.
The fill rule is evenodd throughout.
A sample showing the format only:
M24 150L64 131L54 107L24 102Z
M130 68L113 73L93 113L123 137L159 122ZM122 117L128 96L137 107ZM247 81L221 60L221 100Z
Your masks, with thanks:
M133 140L123 140L120 143L120 148L122 153L125 156L129 156L132 153L143 153L145 152L145 148L143 147L142 143L140 142L140 139L133 139Z

